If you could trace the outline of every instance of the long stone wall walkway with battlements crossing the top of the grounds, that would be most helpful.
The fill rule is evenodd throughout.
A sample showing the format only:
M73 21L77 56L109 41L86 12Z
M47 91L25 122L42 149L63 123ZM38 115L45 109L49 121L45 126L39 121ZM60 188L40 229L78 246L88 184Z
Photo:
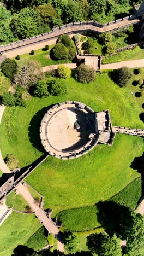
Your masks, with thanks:
M45 44L49 44L51 40L56 40L59 36L61 36L61 34L71 34L74 32L76 33L87 30L91 30L95 33L105 33L108 31L116 30L117 28L137 24L138 22L139 19L135 19L135 17L132 15L124 17L122 19L108 22L106 24L100 24L99 22L94 21L73 22L60 27L53 28L51 32L19 40L18 42L0 45L0 52L7 57L14 57L17 54L21 54L20 49L25 48L25 53L28 53L30 50L35 49L35 45L37 45L37 49L40 49L41 47L44 47ZM10 56L8 54L9 51L11 52Z

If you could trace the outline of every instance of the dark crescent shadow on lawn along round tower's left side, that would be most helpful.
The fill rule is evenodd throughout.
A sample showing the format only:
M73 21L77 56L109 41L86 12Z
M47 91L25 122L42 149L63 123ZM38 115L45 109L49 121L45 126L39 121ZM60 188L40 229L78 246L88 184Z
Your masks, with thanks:
M47 110L50 109L52 106L53 105L44 107L40 109L37 113L35 113L28 127L29 141L32 143L34 148L37 148L40 152L44 152L44 153L45 153L45 150L40 141L40 131L39 131L40 123L44 115L46 114Z

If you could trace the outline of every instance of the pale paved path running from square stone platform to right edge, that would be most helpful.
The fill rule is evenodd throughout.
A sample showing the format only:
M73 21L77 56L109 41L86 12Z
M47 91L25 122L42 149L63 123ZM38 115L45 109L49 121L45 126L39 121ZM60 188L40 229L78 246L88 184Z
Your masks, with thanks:
M118 69L123 66L127 66L129 68L144 67L144 59L121 61L121 62L115 62L111 64L101 64L100 68L101 69Z

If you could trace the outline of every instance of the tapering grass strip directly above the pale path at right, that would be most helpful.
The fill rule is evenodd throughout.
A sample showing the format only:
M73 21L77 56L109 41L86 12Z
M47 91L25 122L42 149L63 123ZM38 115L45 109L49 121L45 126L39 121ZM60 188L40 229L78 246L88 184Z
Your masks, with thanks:
M126 50L117 55L106 57L102 60L102 64L115 63L126 60L139 60L144 58L144 49L141 49L139 46L136 46L133 50Z

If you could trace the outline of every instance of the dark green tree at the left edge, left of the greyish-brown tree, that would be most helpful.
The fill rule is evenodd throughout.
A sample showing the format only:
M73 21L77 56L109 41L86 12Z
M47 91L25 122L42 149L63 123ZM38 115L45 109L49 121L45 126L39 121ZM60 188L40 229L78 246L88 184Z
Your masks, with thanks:
M15 60L7 58L1 64L1 71L5 77L8 77L11 81L13 81L17 72L17 63Z

